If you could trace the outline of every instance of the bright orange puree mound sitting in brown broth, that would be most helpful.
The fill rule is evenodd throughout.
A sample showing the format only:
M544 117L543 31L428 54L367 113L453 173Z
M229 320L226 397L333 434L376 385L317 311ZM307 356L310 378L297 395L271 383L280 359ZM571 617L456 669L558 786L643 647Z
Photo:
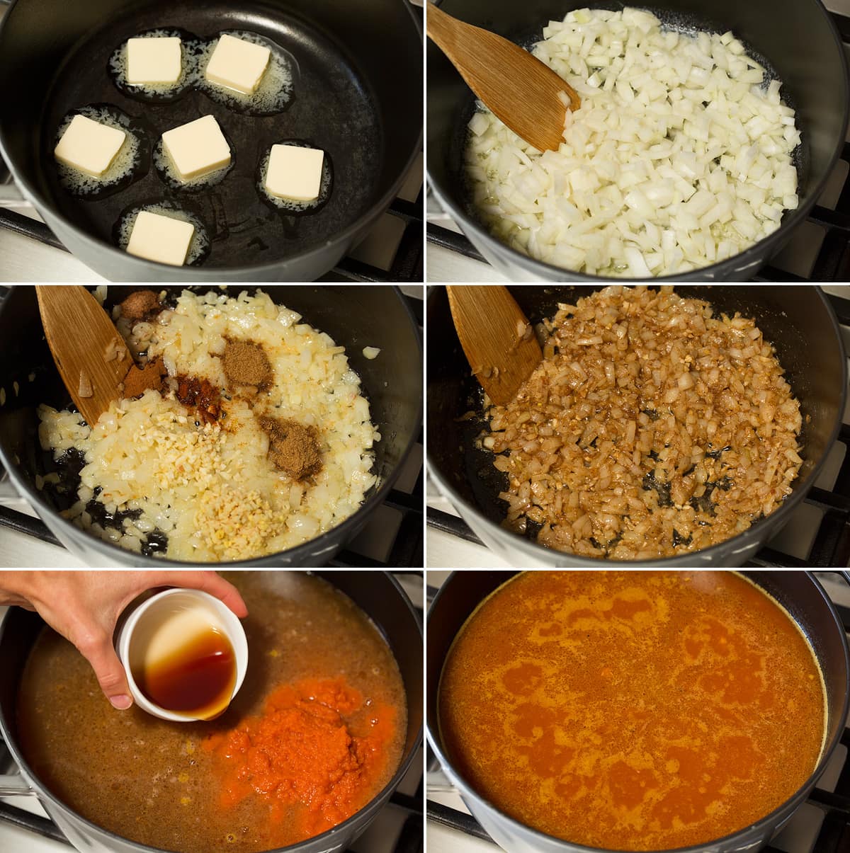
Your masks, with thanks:
M395 710L364 701L342 679L306 679L277 688L260 717L204 741L221 783L221 804L268 798L277 823L293 814L299 838L351 817L376 792L386 769Z

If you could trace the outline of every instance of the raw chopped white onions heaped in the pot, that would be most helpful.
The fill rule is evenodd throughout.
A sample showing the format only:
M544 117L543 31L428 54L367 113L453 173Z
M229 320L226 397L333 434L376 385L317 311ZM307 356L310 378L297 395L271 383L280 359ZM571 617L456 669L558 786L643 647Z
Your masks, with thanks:
M484 107L469 122L474 204L511 247L600 276L672 275L742 252L799 205L794 111L733 33L577 9L533 54L581 97L558 151Z

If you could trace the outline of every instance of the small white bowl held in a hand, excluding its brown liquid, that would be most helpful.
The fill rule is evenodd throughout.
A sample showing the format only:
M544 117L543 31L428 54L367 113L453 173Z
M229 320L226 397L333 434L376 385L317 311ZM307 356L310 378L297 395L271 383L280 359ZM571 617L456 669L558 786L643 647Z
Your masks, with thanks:
M197 589L166 589L165 592L152 595L125 618L115 639L115 651L121 663L124 664L133 701L143 711L172 722L193 722L199 718L176 714L160 705L155 705L142 693L133 677L133 665L141 664L148 643L162 624L173 617L176 606L200 608L204 618L209 618L210 624L215 625L230 640L236 657L236 683L233 686L233 693L230 694L230 701L232 701L242 687L247 671L245 630L236 614L209 593Z

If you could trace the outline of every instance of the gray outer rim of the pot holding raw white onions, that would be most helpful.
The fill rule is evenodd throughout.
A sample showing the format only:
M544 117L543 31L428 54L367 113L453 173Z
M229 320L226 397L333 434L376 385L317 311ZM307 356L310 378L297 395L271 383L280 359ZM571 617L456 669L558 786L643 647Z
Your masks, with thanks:
M848 120L850 120L850 81L848 81L850 67L848 67L847 55L844 51L844 43L841 41L841 36L838 34L835 23L830 17L827 9L824 7L822 0L817 0L815 5L830 30L835 42L835 50L841 58L841 67L844 73L841 75L841 82L839 84L841 91L837 94L835 103L836 105L839 103L841 104L841 126L846 127ZM839 142L835 147L835 151L830 157L828 168L824 171L824 176L815 184L810 199L806 201L805 205L798 207L796 210L786 212L782 218L779 228L777 228L772 234L762 237L752 246L744 249L743 252L738 252L736 255L732 255L731 258L726 258L724 261L720 261L719 263L707 264L707 266L699 267L696 270L690 270L690 272L687 273L679 273L671 276L650 276L649 278L591 276L588 273L568 270L566 267L546 264L544 261L531 258L529 255L510 247L507 243L497 240L477 219L466 212L462 206L457 205L453 200L448 198L448 196L443 193L440 183L434 180L431 170L428 169L427 166L426 174L428 176L428 183L430 184L431 189L434 190L434 195L440 202L440 206L442 206L443 210L448 213L455 222L457 222L460 228L463 229L464 234L469 236L470 241L472 241L474 245L483 245L486 247L487 251L492 252L492 254L497 256L507 254L510 262L518 264L523 270L532 273L533 276L542 279L543 281L590 281L592 283L598 282L600 284L618 284L625 283L627 281L636 281L640 283L659 281L661 284L664 284L678 281L700 281L703 278L722 279L727 273L740 273L740 264L742 262L746 262L748 267L753 268L753 271L758 269L762 264L765 264L766 259L770 258L771 254L782 246L783 241L789 237L791 232L806 221L809 212L811 212L812 207L817 203L820 194L823 193L824 187L830 180L832 171L835 169L835 164L841 157L841 151L844 148L844 144L845 142L842 138L841 142Z

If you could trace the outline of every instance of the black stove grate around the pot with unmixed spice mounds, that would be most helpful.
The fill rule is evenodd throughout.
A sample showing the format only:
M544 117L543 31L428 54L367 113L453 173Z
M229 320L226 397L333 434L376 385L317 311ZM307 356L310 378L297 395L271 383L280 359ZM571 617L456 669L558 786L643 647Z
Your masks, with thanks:
M8 213L8 211L3 211L0 208L0 219L3 218L4 213ZM0 285L0 303L3 302L3 298L7 293L9 293L9 286ZM404 298L405 303L410 309L410 313L419 326L419 334L421 336L423 317L422 299L416 299L407 295ZM420 446L423 444L422 427L419 429L416 443ZM3 480L4 475L3 466L0 466L0 481ZM416 478L416 484L410 493L400 489L391 489L384 499L383 506L396 510L401 514L399 529L396 532L392 548L389 554L387 554L386 559L376 560L366 554L359 554L356 551L344 549L339 554L336 554L333 560L329 561L327 567L341 569L388 569L423 566L425 562L424 519L422 511L424 493L425 467L422 466ZM22 533L41 542L58 545L60 548L65 547L41 519L33 518L32 515L25 513L19 513L15 509L0 506L0 529L2 528Z

